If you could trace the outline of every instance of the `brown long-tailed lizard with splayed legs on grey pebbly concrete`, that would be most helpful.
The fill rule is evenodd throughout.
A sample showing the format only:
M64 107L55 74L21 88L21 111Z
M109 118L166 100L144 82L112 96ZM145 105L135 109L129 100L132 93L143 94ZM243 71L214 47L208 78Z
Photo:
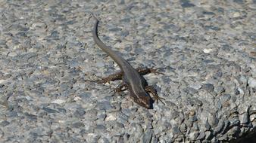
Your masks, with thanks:
M157 91L153 87L148 86L148 82L145 80L145 78L143 78L142 75L146 75L148 73L162 73L157 71L158 68L133 68L133 66L130 65L130 63L127 62L126 59L123 59L116 51L111 50L110 47L105 45L98 38L99 20L93 14L92 17L94 17L95 19L95 25L92 30L92 37L95 41L95 44L97 44L98 47L101 48L101 50L107 53L108 56L111 56L111 59L113 59L114 62L116 62L121 69L121 71L118 71L113 75L109 75L107 78L101 78L101 80L98 80L97 83L106 84L109 81L123 80L123 82L116 87L114 93L128 90L130 92L131 99L133 99L133 101L136 102L138 105L141 105L142 107L148 109L153 108L154 100L151 99L149 93L151 93L151 95L157 102L158 100L161 101L161 99L163 98L158 96ZM125 87L124 90L123 87Z

